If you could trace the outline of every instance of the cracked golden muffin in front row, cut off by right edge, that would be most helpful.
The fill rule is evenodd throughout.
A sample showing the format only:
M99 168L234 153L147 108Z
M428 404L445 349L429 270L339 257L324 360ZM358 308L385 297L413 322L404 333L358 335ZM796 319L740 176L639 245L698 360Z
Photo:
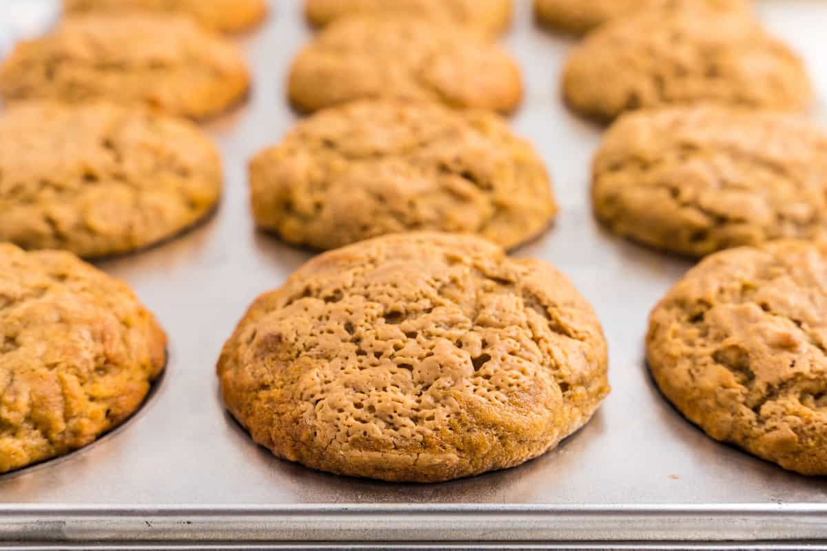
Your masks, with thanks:
M827 474L827 256L782 240L714 254L653 310L649 368L707 435Z

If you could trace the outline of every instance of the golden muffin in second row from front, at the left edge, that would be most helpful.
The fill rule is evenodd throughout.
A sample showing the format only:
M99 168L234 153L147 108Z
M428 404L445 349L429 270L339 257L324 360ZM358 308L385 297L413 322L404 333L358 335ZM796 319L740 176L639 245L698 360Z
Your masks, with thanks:
M86 258L178 233L218 202L218 151L189 121L107 102L0 114L0 240Z

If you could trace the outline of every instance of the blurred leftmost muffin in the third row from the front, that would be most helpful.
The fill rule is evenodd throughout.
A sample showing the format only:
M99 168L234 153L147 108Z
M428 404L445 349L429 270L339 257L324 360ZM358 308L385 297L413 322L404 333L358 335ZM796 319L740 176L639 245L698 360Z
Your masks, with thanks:
M66 18L19 43L0 66L7 102L108 99L193 119L241 101L249 84L232 43L188 17L147 12Z

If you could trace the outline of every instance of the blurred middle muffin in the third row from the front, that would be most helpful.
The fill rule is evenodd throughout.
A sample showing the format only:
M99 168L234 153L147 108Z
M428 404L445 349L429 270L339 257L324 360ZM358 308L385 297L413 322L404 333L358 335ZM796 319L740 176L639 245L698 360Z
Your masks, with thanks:
M522 95L519 67L504 50L426 17L336 21L299 52L289 74L290 100L307 112L358 99L511 112Z

